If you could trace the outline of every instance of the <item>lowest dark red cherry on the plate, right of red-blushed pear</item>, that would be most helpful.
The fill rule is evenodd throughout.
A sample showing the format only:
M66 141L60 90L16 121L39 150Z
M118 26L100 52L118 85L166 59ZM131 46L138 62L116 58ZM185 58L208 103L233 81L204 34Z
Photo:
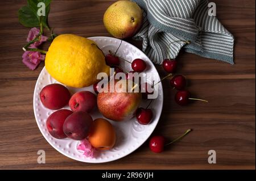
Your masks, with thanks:
M149 124L152 120L153 113L150 109L138 108L136 111L136 118L140 124Z

